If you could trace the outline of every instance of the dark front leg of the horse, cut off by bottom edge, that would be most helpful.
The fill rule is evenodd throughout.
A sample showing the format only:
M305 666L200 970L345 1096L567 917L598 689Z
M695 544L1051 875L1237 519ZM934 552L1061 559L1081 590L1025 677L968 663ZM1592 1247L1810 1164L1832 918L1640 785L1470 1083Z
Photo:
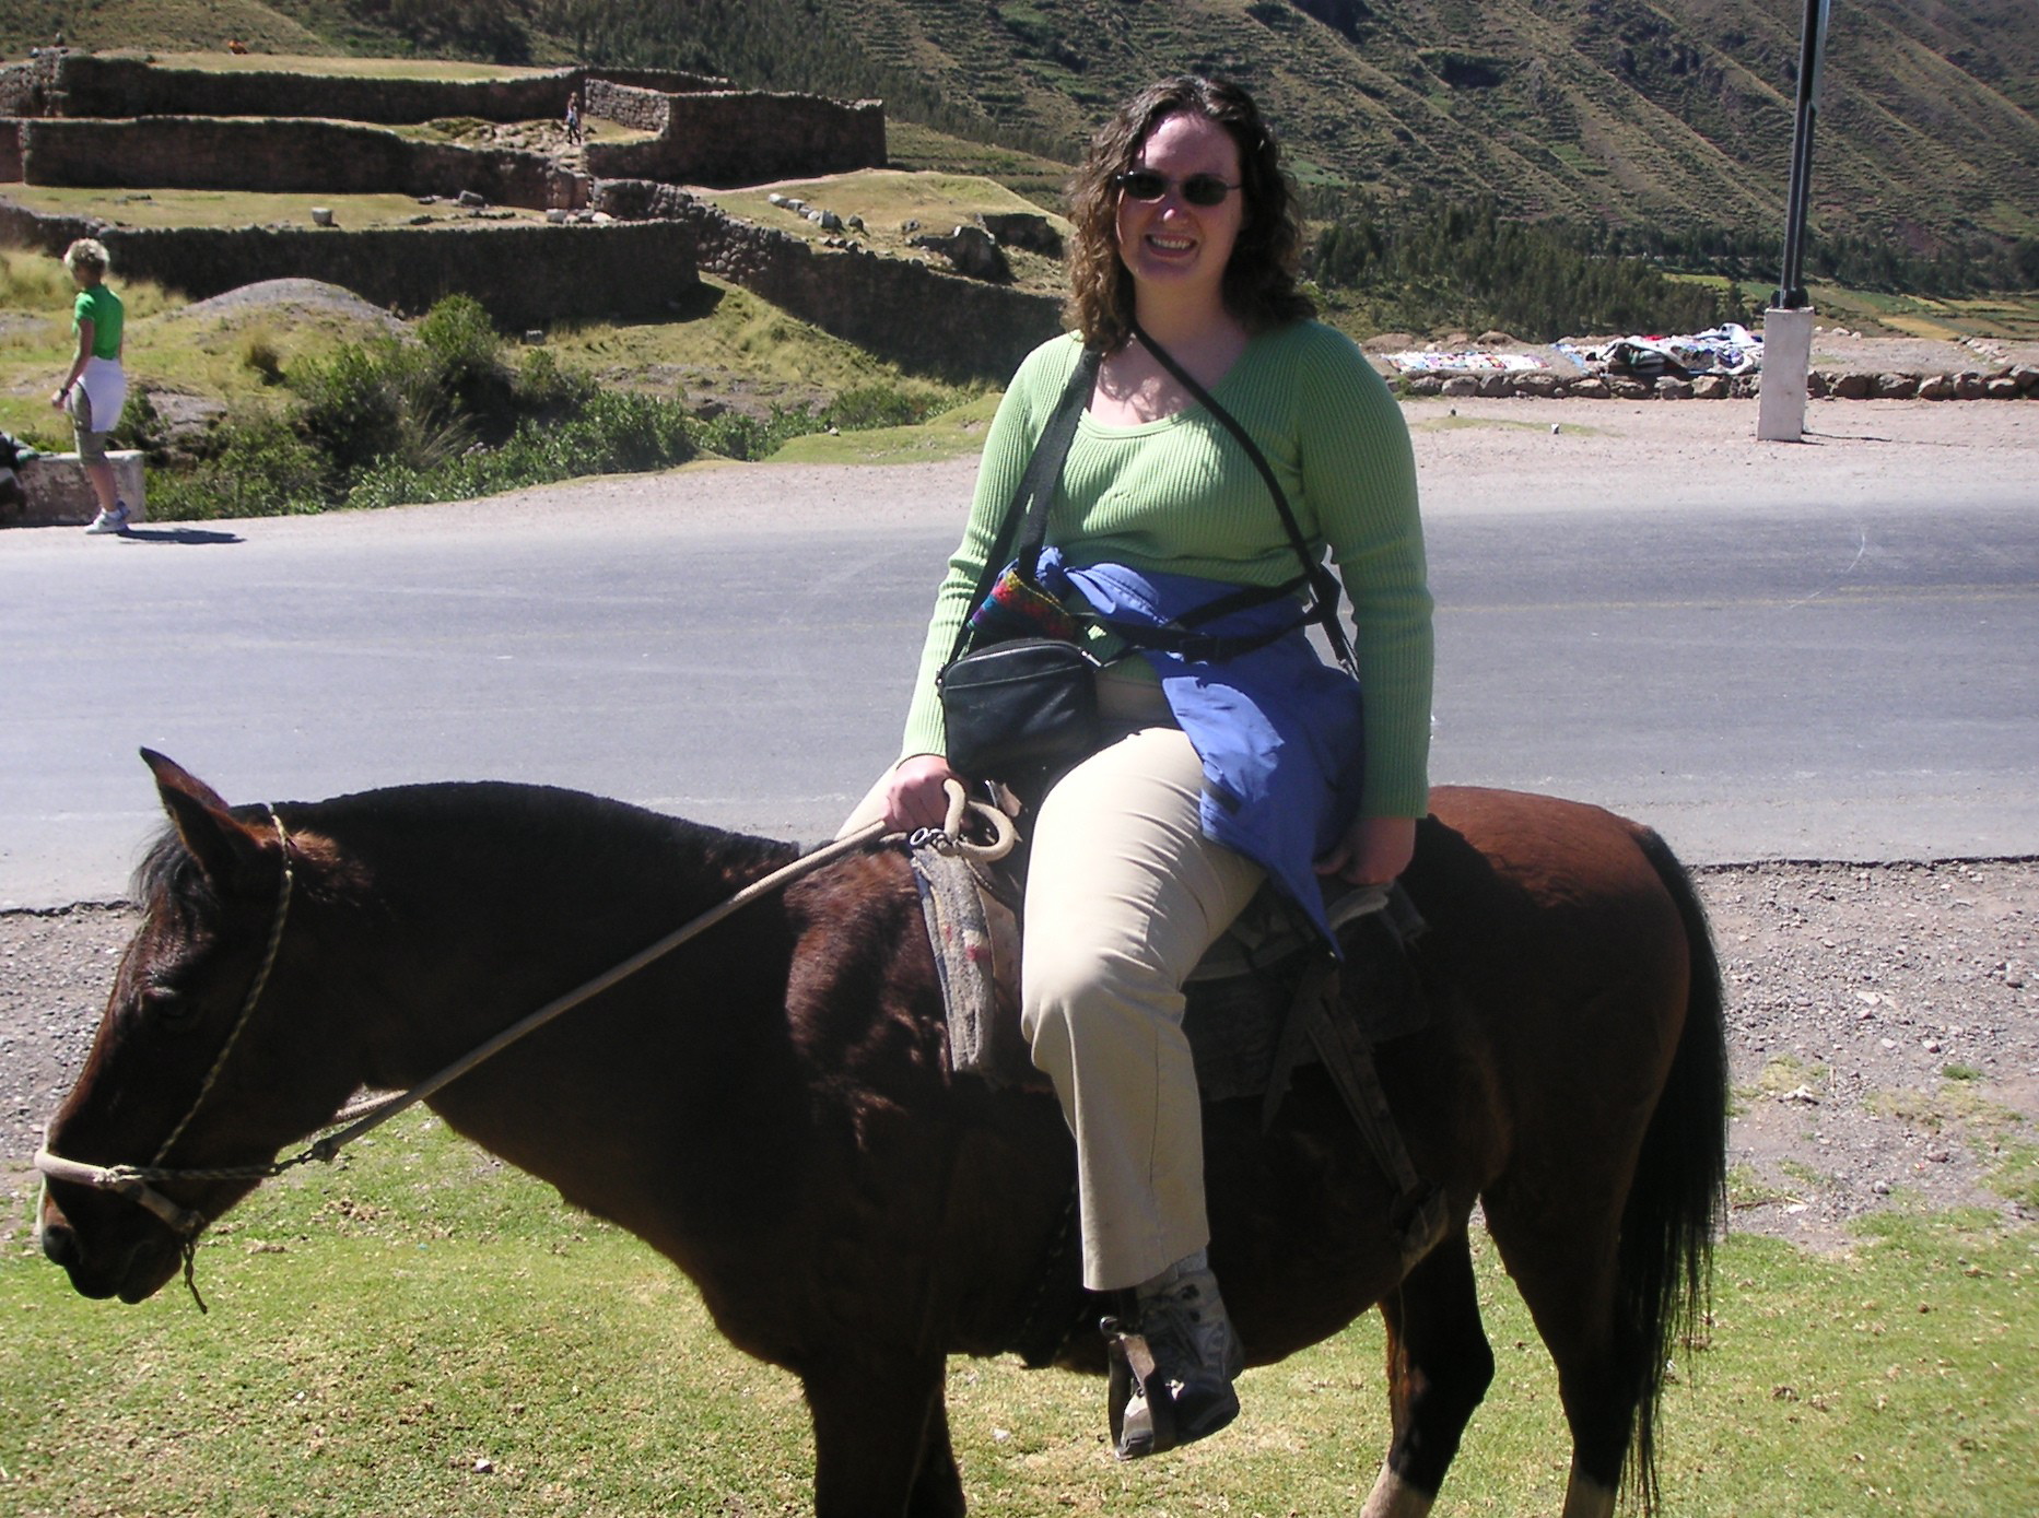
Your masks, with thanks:
M858 1357L801 1375L814 1414L816 1518L960 1518L942 1355Z

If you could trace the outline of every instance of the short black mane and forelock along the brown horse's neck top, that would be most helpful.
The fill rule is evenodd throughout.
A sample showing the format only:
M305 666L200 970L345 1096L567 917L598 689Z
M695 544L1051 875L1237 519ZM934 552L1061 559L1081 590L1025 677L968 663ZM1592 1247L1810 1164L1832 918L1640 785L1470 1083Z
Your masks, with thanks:
M740 882L785 864L797 852L793 844L669 817L610 797L510 780L387 787L328 801L285 801L275 811L292 833L320 833L343 848L363 835L434 837L473 829L475 835L516 839L520 850L540 856L599 850L604 868L618 876L681 862ZM232 815L257 829L269 827L263 805L234 807ZM167 899L194 911L218 905L218 890L175 827L155 837L128 888L137 903Z

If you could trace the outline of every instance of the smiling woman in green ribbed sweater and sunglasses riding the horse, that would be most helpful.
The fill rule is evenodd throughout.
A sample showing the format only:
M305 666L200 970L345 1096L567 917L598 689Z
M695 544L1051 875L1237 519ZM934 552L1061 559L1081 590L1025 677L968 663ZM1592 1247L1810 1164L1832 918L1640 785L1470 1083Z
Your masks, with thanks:
M1307 797L1272 809L1285 842L1264 854L1311 892L1311 870L1384 886L1413 856L1429 795L1431 597L1401 410L1358 348L1313 320L1295 277L1293 187L1244 90L1179 77L1140 92L1091 141L1070 202L1077 332L1036 348L1005 391L936 597L903 758L846 827L867 815L940 827L944 782L987 778L954 774L936 676L1013 485L1089 348L1101 355L1095 389L1048 509L1048 546L1089 599L1064 597L1064 609L1103 615L1103 581L1230 593L1297 575L1272 491L1181 369L1254 438L1354 613L1358 685L1305 644L1315 672L1297 685L1317 695L1283 729L1299 742L1244 744L1262 766L1254 778L1272 776L1260 795ZM1154 1357L1156 1371L1113 1408L1117 1453L1132 1459L1203 1439L1240 1408L1244 1349L1207 1253L1183 982L1276 870L1227 846L1258 848L1258 833L1219 842L1242 793L1213 756L1238 752L1248 731L1232 703L1248 660L1170 666L1113 650L1109 632L1089 642L1111 660L1097 681L1105 746L1030 819L1020 1005L1077 1137L1085 1286L1119 1296L1117 1322Z

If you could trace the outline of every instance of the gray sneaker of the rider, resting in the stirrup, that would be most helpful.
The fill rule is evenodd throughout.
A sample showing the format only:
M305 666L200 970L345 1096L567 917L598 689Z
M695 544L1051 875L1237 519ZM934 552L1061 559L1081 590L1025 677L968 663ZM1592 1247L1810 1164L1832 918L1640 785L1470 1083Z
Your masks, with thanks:
M1134 1318L1099 1324L1111 1357L1111 1445L1121 1461L1160 1455L1215 1434L1240 1416L1232 1377L1246 1349L1203 1251L1142 1288Z

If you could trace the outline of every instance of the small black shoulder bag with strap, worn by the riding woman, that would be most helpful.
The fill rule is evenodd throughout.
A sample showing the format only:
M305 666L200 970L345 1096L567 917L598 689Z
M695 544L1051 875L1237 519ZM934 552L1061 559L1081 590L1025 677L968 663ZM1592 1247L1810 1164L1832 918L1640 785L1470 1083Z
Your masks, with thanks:
M1020 593L1046 599L1036 568L1048 538L1048 505L1077 422L1097 387L1099 361L1101 355L1089 348L1077 361L985 556L948 664L936 676L950 768L973 780L1001 780L1020 795L1042 791L1044 780L1097 750L1097 660L1070 638L1003 638L971 652L964 646L973 642L975 613L1005 571L1015 530Z

